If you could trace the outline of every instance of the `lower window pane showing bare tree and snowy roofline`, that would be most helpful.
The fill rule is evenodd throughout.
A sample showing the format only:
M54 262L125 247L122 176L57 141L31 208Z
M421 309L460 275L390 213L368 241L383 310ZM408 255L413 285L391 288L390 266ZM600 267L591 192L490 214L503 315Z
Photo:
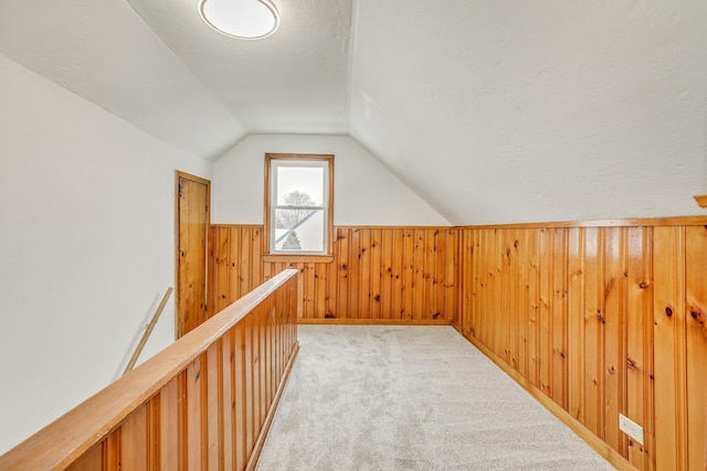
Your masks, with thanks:
M323 210L276 210L275 221L275 250L324 250Z

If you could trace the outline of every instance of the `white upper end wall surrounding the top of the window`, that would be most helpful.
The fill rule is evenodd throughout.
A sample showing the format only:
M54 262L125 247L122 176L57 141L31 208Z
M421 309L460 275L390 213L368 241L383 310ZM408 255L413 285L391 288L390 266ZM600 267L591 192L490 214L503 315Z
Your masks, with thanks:
M251 135L214 163L214 224L263 224L265 153L333 153L335 225L450 225L347 136Z

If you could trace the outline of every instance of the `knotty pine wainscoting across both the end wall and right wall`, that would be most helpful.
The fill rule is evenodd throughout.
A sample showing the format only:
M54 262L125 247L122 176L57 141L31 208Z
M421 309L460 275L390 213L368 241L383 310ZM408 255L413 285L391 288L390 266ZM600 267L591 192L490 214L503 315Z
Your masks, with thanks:
M452 322L618 467L705 471L706 226L336 227L333 263L265 263L262 226L212 226L210 307L293 267L300 323Z

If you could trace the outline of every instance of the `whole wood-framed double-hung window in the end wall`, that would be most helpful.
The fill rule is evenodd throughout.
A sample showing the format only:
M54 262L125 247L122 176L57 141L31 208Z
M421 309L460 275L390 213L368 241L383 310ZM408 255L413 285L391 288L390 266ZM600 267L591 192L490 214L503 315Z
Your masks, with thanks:
M265 154L270 255L331 255L334 156Z

